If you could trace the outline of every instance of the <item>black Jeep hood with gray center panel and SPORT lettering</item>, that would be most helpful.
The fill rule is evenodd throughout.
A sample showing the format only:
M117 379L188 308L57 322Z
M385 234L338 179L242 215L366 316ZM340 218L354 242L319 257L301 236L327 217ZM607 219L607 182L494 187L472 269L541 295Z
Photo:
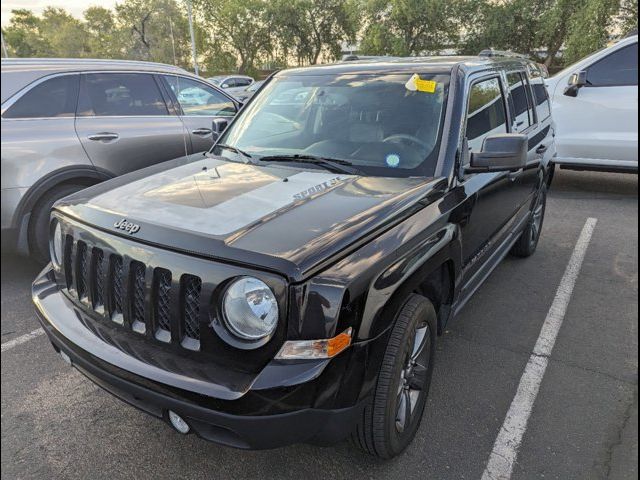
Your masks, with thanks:
M413 211L435 184L442 182L257 166L200 154L102 183L56 209L134 241L301 280Z

